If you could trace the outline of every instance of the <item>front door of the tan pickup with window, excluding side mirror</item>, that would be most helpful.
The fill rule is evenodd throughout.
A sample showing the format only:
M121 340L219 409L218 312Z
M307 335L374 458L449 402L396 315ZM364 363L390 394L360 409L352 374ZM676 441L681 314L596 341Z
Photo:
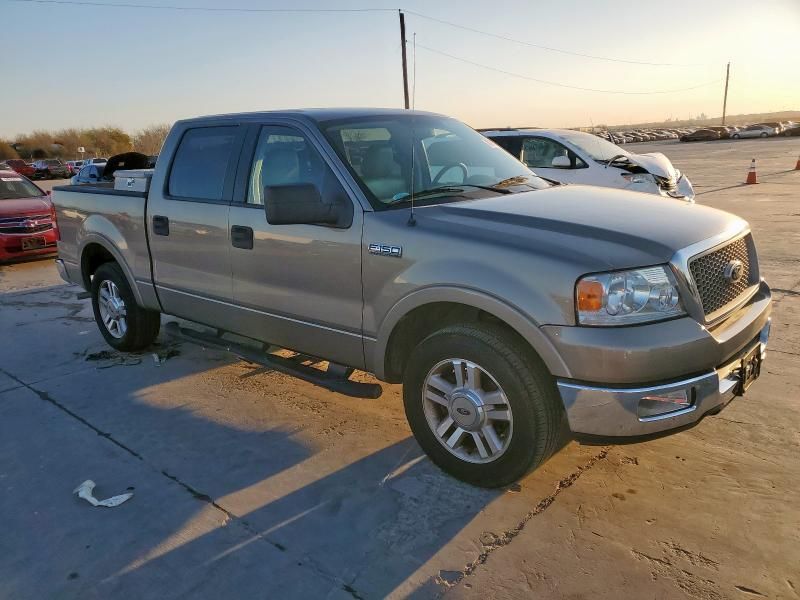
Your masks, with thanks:
M231 206L233 296L239 333L363 367L360 206L345 191L309 132L261 125L243 157ZM264 188L315 185L352 219L339 226L271 225ZM238 184L237 184L238 185Z

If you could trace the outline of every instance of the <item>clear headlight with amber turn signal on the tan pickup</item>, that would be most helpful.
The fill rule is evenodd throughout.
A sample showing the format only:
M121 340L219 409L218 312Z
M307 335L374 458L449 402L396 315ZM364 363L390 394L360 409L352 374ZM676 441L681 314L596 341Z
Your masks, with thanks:
M583 277L575 286L575 306L581 325L630 325L686 314L666 266Z

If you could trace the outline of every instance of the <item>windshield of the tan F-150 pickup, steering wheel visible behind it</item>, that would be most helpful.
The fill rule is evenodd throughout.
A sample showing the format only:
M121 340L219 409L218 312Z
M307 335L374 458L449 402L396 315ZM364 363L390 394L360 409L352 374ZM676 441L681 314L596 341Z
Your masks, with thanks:
M378 209L409 199L412 146L414 191L425 192L425 204L464 193L499 196L512 185L549 187L494 142L448 117L354 117L321 123L321 129ZM492 189L497 184L499 191Z

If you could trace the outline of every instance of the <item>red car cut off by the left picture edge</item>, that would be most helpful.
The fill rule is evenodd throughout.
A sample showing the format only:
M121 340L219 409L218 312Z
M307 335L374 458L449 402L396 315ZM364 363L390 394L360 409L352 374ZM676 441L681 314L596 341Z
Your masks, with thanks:
M14 171L0 171L0 263L56 252L48 194Z

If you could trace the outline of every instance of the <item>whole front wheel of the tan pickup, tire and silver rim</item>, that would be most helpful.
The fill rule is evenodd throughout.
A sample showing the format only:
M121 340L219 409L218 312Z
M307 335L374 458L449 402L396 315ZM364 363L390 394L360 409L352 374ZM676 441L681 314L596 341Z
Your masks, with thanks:
M403 402L414 437L444 471L508 485L556 449L564 423L552 376L499 327L454 325L413 350Z

